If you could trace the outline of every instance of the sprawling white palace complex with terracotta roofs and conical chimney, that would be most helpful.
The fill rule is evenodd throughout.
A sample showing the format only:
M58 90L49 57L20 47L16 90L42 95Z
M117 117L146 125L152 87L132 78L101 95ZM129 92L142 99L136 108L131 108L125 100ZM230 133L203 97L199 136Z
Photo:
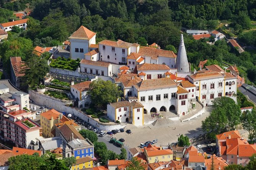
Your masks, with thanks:
M221 96L236 102L237 77L217 65L191 72L183 34L177 55L122 40L96 44L96 33L83 26L69 38L70 57L82 59L82 72L110 77L123 91L122 101L108 104L108 117L113 121L139 126L143 115L151 112L187 115L197 100L204 106Z

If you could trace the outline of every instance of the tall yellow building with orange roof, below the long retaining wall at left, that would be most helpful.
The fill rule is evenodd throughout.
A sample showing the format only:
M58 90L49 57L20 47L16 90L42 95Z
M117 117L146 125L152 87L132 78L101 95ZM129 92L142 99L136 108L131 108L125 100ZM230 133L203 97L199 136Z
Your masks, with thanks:
M61 122L63 114L51 109L40 114L40 125L43 137L52 138L55 136L55 124Z

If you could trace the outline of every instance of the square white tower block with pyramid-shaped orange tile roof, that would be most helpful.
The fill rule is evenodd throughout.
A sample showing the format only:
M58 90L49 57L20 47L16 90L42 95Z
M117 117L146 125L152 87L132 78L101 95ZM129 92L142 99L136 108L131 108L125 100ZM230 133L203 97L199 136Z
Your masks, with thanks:
M70 58L84 59L84 55L90 51L91 45L96 44L96 33L81 26L68 39L70 41Z

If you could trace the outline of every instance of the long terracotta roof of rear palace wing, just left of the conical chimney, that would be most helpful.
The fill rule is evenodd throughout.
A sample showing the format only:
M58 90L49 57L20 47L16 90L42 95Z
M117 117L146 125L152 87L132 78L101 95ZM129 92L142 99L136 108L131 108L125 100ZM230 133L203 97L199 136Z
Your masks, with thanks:
M173 51L160 50L152 47L140 47L139 54L142 56L148 56L152 59L157 59L158 56L176 58L177 55Z

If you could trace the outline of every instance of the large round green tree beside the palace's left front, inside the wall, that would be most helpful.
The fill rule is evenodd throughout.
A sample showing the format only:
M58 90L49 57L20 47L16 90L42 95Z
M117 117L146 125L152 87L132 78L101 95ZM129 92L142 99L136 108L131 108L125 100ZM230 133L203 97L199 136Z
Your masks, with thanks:
M91 96L91 101L97 107L104 106L108 103L116 102L116 99L122 95L122 91L111 81L97 79L91 82L87 94Z

